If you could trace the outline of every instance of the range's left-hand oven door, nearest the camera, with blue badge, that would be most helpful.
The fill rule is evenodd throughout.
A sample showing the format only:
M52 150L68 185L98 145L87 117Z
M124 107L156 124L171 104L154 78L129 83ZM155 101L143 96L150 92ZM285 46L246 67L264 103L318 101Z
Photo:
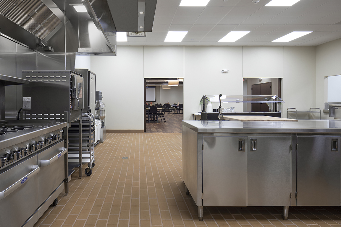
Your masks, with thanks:
M21 226L39 207L37 164L34 155L0 173L0 226Z

